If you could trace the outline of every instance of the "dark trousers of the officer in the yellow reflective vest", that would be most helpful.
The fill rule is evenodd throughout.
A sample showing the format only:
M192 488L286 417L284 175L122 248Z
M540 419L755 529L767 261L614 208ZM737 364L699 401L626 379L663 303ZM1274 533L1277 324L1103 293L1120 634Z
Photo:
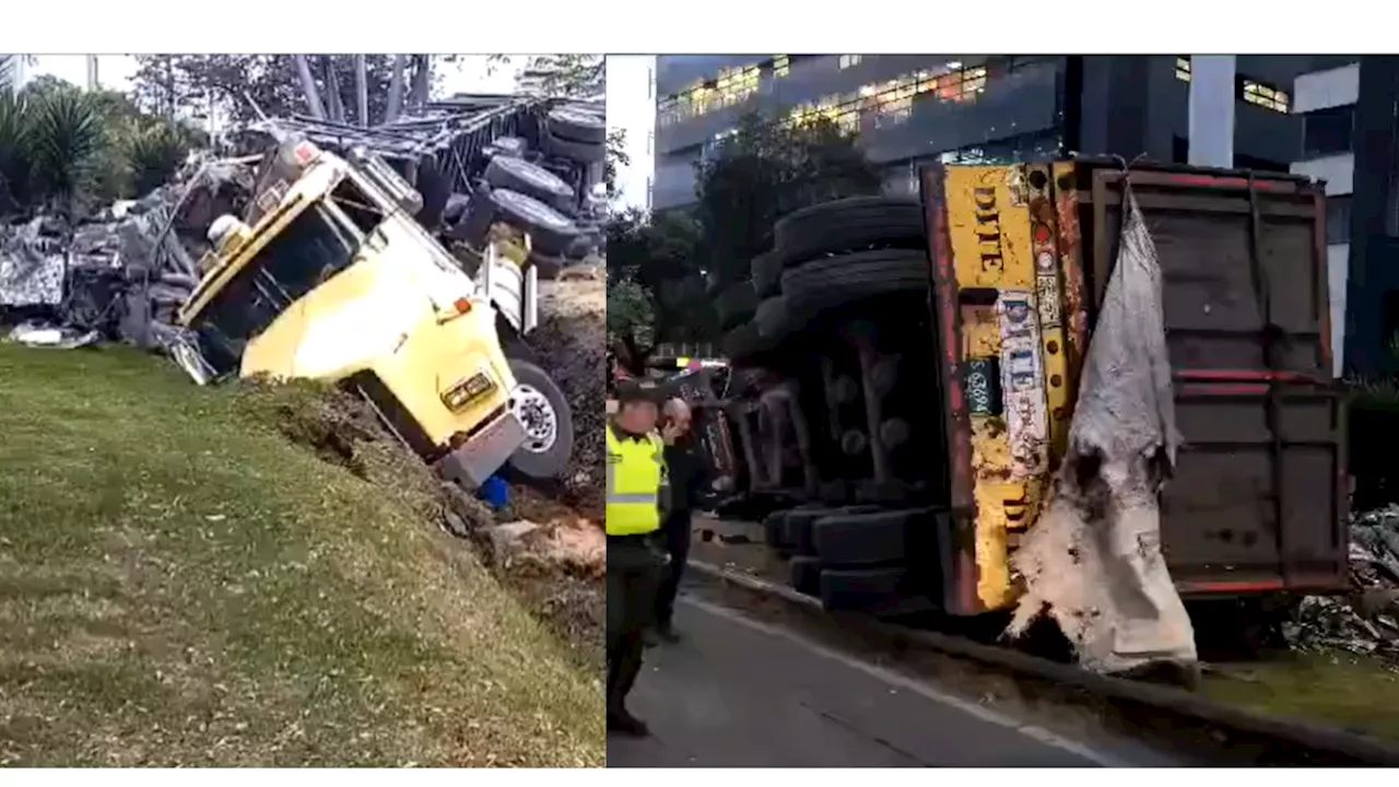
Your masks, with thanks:
M607 710L618 711L646 650L656 591L666 573L659 534L607 536Z

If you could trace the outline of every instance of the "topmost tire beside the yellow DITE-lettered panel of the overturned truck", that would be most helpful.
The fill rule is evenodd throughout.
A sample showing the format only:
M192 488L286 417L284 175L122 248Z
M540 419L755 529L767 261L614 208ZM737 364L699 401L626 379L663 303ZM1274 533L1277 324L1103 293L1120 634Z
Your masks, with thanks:
M779 218L772 234L774 253L783 267L874 244L928 244L919 200L888 196L838 199L803 207Z

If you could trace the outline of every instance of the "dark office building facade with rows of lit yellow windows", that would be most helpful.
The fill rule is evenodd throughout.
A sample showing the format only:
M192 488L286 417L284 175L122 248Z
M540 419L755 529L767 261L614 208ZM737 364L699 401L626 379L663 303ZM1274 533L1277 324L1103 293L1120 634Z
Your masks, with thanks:
M694 202L694 165L739 118L824 115L859 130L890 192L923 164L1035 161L1069 151L1184 162L1189 57L658 56L652 207ZM1240 56L1235 164L1287 169L1300 126L1288 91L1309 59Z

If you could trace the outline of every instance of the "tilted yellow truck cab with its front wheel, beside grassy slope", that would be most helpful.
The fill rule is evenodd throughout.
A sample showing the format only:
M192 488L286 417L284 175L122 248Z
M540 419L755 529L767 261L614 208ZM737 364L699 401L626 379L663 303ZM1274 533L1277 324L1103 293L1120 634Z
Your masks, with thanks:
M253 225L225 216L210 228L214 251L179 312L197 335L182 365L200 382L343 385L469 489L512 459L525 475L561 472L567 403L537 367L506 358L490 300L404 210L411 186L364 154L292 141L276 155L290 176L257 195Z

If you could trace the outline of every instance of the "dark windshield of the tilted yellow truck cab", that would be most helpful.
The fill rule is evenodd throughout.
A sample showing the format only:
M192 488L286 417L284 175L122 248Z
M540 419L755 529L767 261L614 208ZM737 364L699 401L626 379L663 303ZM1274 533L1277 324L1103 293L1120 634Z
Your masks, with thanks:
M301 211L238 272L194 323L217 375L235 374L243 347L298 298L344 270L358 238L320 203Z

